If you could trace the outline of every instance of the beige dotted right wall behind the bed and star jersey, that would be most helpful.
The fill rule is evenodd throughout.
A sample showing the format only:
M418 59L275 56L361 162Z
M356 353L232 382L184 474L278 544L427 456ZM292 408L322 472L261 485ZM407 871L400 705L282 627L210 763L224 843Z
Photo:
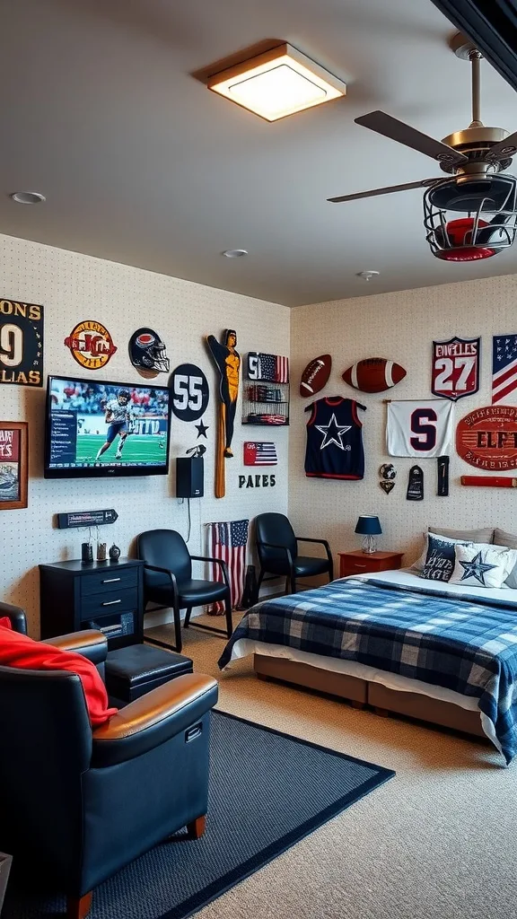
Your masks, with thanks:
M454 271L454 267L452 268ZM431 396L431 342L453 335L481 335L481 386L477 395L455 405L455 421L490 403L491 336L517 333L517 275L405 290L354 300L304 306L292 312L292 426L290 514L299 532L327 537L334 552L359 548L353 529L360 514L377 514L383 527L379 549L404 550L412 561L420 534L428 525L476 528L497 525L517 532L517 491L460 485L461 475L476 471L450 449L450 496L436 495L436 460L421 461L425 497L406 500L408 470L416 459L389 458L385 451L386 395L394 399ZM304 407L298 382L311 357L330 353L333 368L323 395L357 398L367 406L363 439L366 470L362 482L325 482L304 476ZM407 369L395 389L378 395L359 393L340 379L344 369L364 357L388 357ZM378 469L391 461L396 487L385 494Z

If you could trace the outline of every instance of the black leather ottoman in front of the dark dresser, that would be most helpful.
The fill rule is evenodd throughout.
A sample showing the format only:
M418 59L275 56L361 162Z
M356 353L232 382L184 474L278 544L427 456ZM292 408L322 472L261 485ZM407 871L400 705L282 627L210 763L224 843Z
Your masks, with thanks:
M190 657L151 648L148 644L109 651L106 658L108 695L124 703L133 702L176 676L191 673Z

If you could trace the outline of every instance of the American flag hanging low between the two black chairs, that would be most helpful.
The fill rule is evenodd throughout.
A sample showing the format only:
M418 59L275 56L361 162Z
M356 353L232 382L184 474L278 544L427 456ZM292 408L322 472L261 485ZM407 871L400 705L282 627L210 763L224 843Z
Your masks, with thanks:
M249 520L232 520L230 523L209 523L207 526L209 555L216 559L223 559L226 562L230 579L232 608L234 609L240 603L244 590ZM220 565L212 564L211 577L213 581L224 580ZM209 612L214 616L222 616L224 603L214 603Z

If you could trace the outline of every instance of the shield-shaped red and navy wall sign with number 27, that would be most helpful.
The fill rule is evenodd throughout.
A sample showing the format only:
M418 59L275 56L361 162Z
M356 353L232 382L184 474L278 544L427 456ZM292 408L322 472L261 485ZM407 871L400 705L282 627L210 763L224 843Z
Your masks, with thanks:
M457 402L479 389L480 338L450 338L432 343L431 392Z

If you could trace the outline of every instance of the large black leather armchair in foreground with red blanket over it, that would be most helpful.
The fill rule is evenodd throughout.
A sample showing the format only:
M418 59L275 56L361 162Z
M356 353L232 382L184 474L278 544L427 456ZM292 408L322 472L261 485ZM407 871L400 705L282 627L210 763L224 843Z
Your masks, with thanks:
M17 631L17 607L0 604ZM106 658L102 632L48 640ZM183 826L198 838L208 807L210 709L217 683L178 676L92 732L79 677L0 666L0 851L24 888L51 883L83 919L91 891Z

